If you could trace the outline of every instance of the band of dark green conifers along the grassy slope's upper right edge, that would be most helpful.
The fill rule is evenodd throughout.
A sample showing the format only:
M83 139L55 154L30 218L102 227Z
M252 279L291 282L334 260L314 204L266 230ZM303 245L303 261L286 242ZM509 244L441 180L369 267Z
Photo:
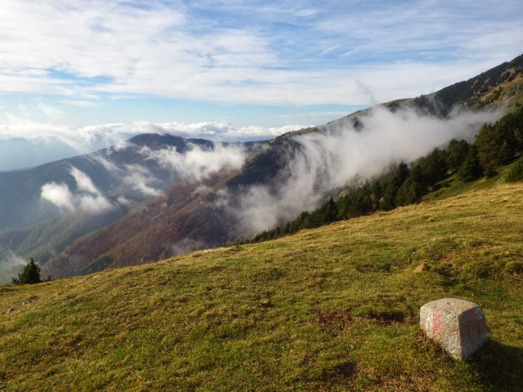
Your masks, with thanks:
M512 162L521 152L523 108L506 114L495 124L484 124L472 144L465 140L451 140L447 148L435 148L410 165L401 162L384 174L343 192L336 200L331 197L318 209L302 212L283 226L264 231L252 239L232 241L228 245L257 243L301 229L418 203L424 194L436 189L438 182L454 173L463 182L482 176L494 177L499 166ZM519 159L507 180L523 180L523 158Z

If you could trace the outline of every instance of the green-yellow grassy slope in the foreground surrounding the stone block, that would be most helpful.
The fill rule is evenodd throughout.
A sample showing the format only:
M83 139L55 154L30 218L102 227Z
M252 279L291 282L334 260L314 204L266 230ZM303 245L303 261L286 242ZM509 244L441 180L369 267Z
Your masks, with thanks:
M0 390L520 391L523 184L492 186L267 243L0 286ZM422 262L430 271L414 273ZM443 297L484 309L490 341L471 361L418 327L419 307Z

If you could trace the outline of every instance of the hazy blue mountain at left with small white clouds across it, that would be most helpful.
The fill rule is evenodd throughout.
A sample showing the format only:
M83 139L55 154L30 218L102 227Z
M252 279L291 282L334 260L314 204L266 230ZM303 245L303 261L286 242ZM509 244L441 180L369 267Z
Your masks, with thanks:
M223 146L248 151L256 144ZM2 264L20 256L46 263L76 238L125 216L192 169L169 158L214 147L207 140L143 134L92 154L0 172L0 274Z

